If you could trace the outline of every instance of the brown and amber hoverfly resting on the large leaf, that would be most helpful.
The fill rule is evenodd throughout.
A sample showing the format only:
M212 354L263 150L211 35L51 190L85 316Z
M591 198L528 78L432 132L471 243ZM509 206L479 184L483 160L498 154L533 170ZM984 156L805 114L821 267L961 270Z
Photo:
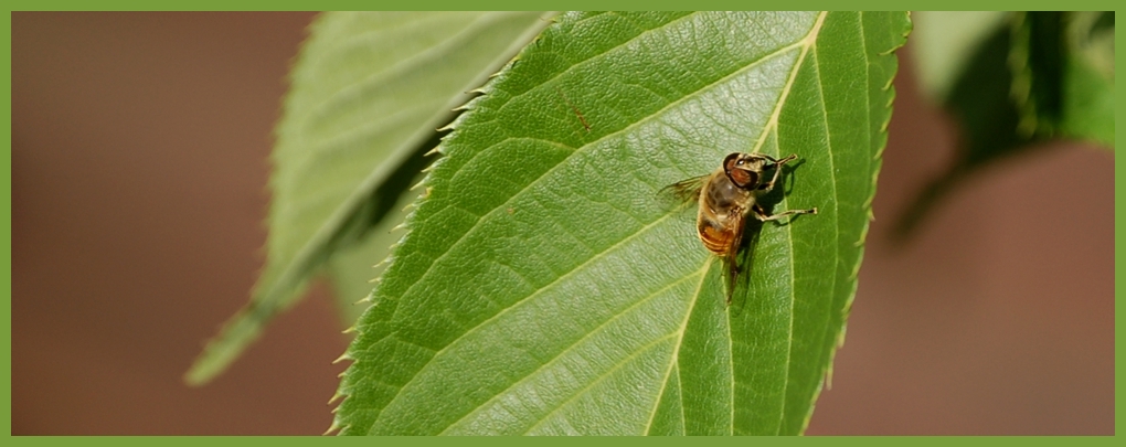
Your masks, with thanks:
M699 203L696 232L704 247L717 254L727 268L727 305L731 305L731 295L740 274L735 256L743 240L747 216L766 222L795 214L817 214L817 208L810 208L769 215L759 204L759 197L770 193L778 181L781 166L794 159L797 154L778 160L761 153L734 152L723 159L723 164L715 172L662 189L662 193L668 190L683 202ZM763 172L770 169L775 170L774 176L770 181L763 181Z

